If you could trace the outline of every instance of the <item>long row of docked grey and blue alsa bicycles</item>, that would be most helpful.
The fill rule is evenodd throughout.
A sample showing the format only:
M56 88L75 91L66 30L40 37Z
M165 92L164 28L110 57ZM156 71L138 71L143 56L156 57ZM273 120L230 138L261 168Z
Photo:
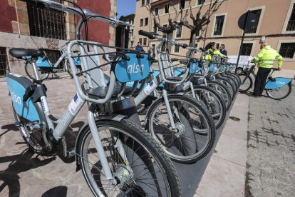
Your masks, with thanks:
M58 8L66 11L69 6ZM80 35L90 18L128 25L90 11L76 12L81 14ZM27 71L33 81L19 74L6 76L15 125L24 141L45 156L55 155L61 143L64 156L76 157L77 169L95 196L181 196L172 161L195 163L209 153L241 84L235 66L225 58L211 54L207 61L208 52L202 49L150 32L139 34L160 41L157 60L132 49L110 52L113 46L93 41L66 44L61 58L68 62L77 93L61 118L51 114L39 74L41 64L51 66L44 52L9 50L33 72ZM162 52L169 44L187 49L187 56ZM193 57L196 51L200 59ZM68 148L64 133L84 103L88 123L79 131L76 146Z

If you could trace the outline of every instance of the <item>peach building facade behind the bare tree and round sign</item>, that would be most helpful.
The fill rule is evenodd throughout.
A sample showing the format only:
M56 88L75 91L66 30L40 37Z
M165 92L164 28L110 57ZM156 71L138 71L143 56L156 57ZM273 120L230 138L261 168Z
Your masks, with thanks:
M210 7L210 1L192 0L192 13L195 15L203 4L201 14L205 14ZM135 42L143 41L145 50L149 46L157 46L158 42L138 35L138 30L156 31L162 34L154 29L153 16L147 6L152 8L153 13L160 19L160 24L163 25L167 24L169 16L175 19L175 9L179 11L180 6L184 7L184 13L190 9L189 0L137 0ZM207 31L203 32L202 39L197 41L197 46L204 47L214 41L217 44L225 44L229 55L239 54L242 30L239 29L237 22L239 16L248 10L257 14L258 20L257 24L245 34L242 54L256 56L260 50L259 39L266 36L266 42L284 57L283 69L295 71L295 0L227 0L212 15ZM190 16L187 16L187 20L191 23ZM173 39L189 44L190 29L182 26L181 29L174 31ZM185 55L185 49L172 46L172 53Z

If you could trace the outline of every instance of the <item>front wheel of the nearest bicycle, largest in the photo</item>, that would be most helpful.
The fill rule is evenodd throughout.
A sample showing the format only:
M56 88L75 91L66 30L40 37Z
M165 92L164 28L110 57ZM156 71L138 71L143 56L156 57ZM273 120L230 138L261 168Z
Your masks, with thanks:
M80 163L83 172L83 176L86 178L86 182L95 196L98 196L99 193L109 196L107 193L108 188L115 188L116 191L113 192L118 192L117 195L114 195L115 193L113 193L112 196L128 196L130 194L135 194L135 196L160 196L162 193L160 193L160 195L155 195L155 193L159 192L159 190L162 191L163 188L159 188L159 186L153 186L150 184L153 182L155 182L155 184L167 183L167 188L169 191L167 191L166 195L165 193L162 194L162 196L181 196L180 182L178 180L177 172L175 171L172 161L170 161L170 158L164 153L164 151L162 151L154 139L148 133L143 131L143 128L140 128L139 126L135 125L135 123L131 123L125 119L120 122L107 120L96 121L96 126L98 127L100 136L102 136L101 139L105 148L105 154L107 154L109 165L111 163L110 169L112 170L117 185L113 186L110 180L107 178L103 179L103 174L100 171L101 166L98 166L99 158L97 156L93 158L88 156L88 153L90 154L92 151L96 150L96 148L94 144L93 148L91 148L91 140L93 139L89 126L86 126L86 128L84 128L82 131L83 133L81 133L81 137L78 139L76 153L78 156L78 162ZM112 134L108 135L107 131L103 131L104 128L108 128L108 132ZM128 161L123 161L122 157L120 157L118 154L118 147L115 148L111 144L114 143L114 141L118 141L118 138L120 138L119 143L122 145L120 147L123 148ZM133 149L131 150L131 148L135 148L135 151ZM113 154L113 151L115 154ZM145 152L146 154L149 153L150 155L147 156ZM134 153L133 156L130 156L130 153ZM96 153L96 155L98 154ZM139 158L139 156L143 157ZM130 161L131 158L135 160ZM128 165L126 162L130 163L130 168L127 167ZM139 163L140 165L138 165ZM150 166L145 168L146 163L148 163ZM91 165L93 165L93 167L90 167ZM113 170L113 168L116 168L116 170ZM154 168L158 171L161 171L160 173L163 173L163 181L159 179L160 175L158 172L157 174L153 174L155 172ZM143 171L138 173L139 170ZM123 180L123 178L120 178L119 173L123 174L121 177L124 176L126 179L130 178L130 180ZM143 180L140 180L141 176L143 176ZM109 183L108 188L103 188L103 186L105 186L104 183ZM149 184L148 187L146 187L145 184ZM130 188L128 188L129 186ZM149 187L156 189L155 191L150 191ZM151 193L146 195L147 191L150 191ZM141 195L143 193L145 194Z

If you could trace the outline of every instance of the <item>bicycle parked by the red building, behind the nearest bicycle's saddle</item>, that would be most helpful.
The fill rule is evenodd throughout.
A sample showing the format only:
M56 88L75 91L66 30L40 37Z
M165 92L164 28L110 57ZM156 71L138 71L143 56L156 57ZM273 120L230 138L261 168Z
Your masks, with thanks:
M78 51L74 51L74 52L78 52ZM67 71L68 74L73 77L72 71L71 71L71 67L68 66L68 57L66 54L66 49L64 49L64 47L61 50L61 56L58 59L58 61L56 61L55 64L52 64L51 61L48 59L48 56L46 54L46 51L43 51L44 55L38 57L38 59L36 60L36 65L38 67L38 74L40 76L40 80L45 80L48 78L49 74L53 73L56 74L56 72L58 71ZM29 76L29 78L31 78L32 80L36 80L35 75L34 75L34 71L33 71L33 66L31 64L31 57L28 56L25 59L25 71L26 74ZM81 62L78 58L74 59L76 67L78 69L81 70ZM63 64L63 69L58 69L58 66L61 66L61 64Z

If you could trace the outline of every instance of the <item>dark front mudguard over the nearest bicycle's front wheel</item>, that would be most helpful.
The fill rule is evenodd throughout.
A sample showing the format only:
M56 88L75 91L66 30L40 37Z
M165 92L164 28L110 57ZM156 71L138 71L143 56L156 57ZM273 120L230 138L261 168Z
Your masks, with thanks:
M120 122L123 119L128 118L127 116L118 114L118 115L114 115L114 116L100 116L97 121L117 121ZM77 156L77 149L78 149L78 141L80 141L81 135L83 132L86 131L86 128L88 128L88 122L84 123L84 125L80 128L80 130L78 131L78 135L76 137L76 143L75 143L75 148L76 148L76 153L75 153L75 160L76 160L76 171L79 171L81 169L80 166L80 161L78 160L78 156Z

